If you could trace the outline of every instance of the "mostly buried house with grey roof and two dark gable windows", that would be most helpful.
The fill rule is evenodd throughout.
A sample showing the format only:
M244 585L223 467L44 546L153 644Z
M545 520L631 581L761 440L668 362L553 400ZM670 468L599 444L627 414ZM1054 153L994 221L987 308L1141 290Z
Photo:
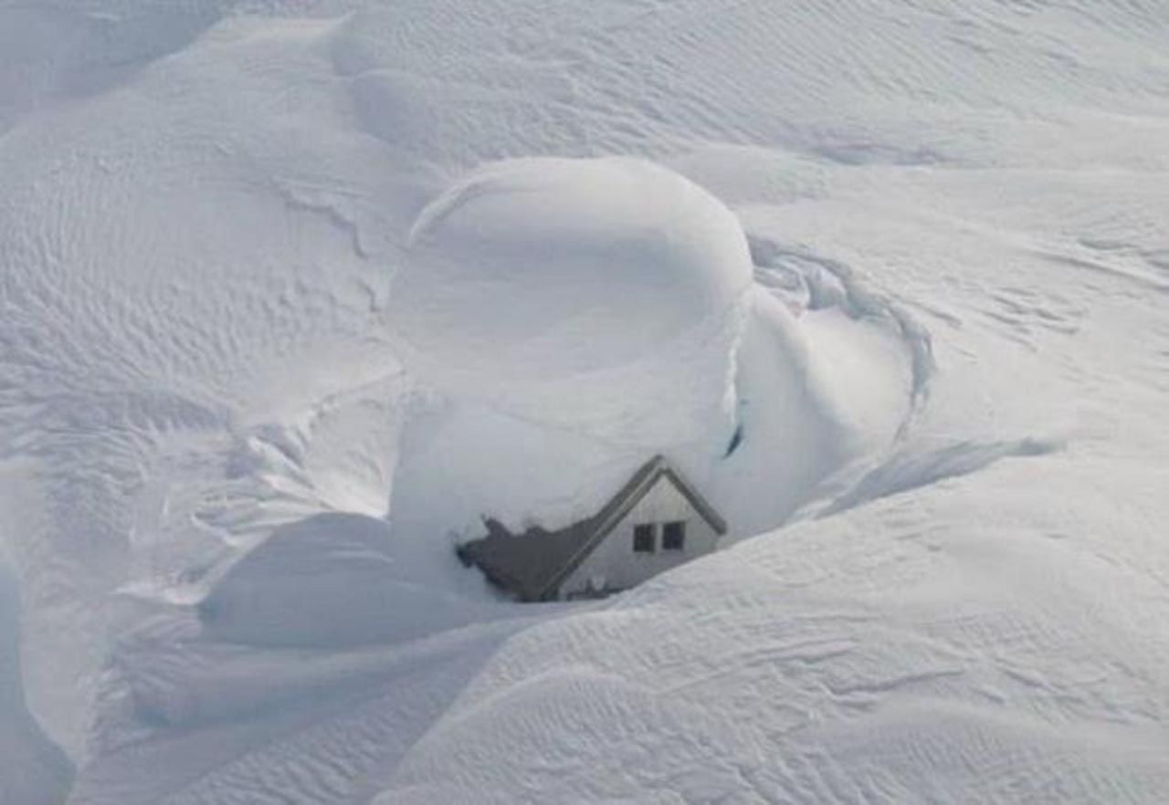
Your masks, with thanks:
M458 556L520 601L627 590L714 550L727 529L662 456L642 465L595 515L560 530L512 534L497 520L485 523L487 535L459 546Z

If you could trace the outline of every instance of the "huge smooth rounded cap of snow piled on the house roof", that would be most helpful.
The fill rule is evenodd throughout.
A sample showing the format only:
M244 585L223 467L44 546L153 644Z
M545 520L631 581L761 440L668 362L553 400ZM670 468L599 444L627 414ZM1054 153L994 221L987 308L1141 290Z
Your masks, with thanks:
M407 429L395 521L551 525L656 452L701 478L725 451L752 263L706 190L634 159L507 160L437 197L410 244L390 325L447 405Z

